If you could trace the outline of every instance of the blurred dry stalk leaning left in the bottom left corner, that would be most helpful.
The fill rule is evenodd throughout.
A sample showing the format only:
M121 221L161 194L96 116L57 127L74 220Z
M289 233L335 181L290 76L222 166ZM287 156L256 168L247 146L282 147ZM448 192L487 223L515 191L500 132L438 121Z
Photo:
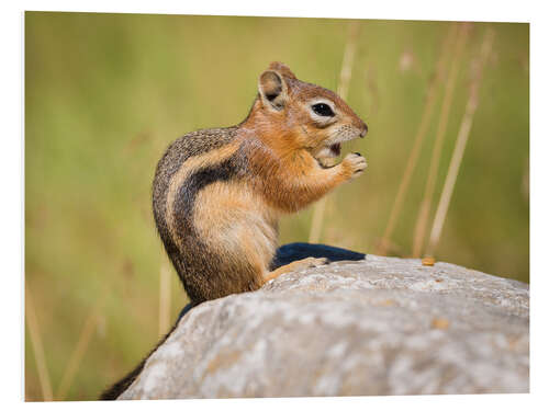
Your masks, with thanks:
M44 401L52 401L54 399L54 393L52 391L52 383L49 380L49 374L46 366L46 356L44 355L44 345L42 343L42 336L38 328L38 319L36 317L36 311L34 309L34 301L29 289L25 287L25 319L26 327L29 327L29 333L31 334L31 343L34 350L34 358L36 361L36 368L38 370L38 381L42 388L42 398Z

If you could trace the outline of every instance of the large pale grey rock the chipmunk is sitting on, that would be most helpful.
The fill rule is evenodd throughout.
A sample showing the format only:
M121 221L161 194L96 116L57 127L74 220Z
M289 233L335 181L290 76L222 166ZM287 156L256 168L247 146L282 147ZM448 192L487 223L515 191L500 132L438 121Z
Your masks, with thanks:
M526 284L289 244L333 262L180 320L120 399L528 392Z

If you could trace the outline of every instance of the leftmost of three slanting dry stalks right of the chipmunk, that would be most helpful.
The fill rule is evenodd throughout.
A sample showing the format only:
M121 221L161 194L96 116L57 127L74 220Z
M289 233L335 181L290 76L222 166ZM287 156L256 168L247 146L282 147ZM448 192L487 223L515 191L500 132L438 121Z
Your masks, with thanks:
M417 129L414 147L410 152L408 161L406 163L406 168L404 169L404 173L401 180L401 184L399 185L399 191L396 192L396 197L394 199L393 208L391 209L391 214L389 216L389 222L385 227L385 231L383 232L383 237L381 238L378 248L376 250L377 254L384 255L389 249L390 239L393 233L394 227L399 219L402 209L402 203L404 201L404 196L406 195L410 180L412 179L412 174L414 173L415 165L417 163L417 157L419 156L419 150L423 145L423 140L425 135L427 134L428 126L430 124L430 118L433 116L433 109L435 106L435 96L437 92L437 85L441 80L442 73L446 69L446 59L449 55L450 44L453 43L453 37L456 36L457 24L452 24L448 35L446 36L445 42L442 43L440 57L437 61L435 69L435 79L432 81L429 89L427 91L427 99L425 103L425 109L422 114L422 119L419 122L419 127Z

